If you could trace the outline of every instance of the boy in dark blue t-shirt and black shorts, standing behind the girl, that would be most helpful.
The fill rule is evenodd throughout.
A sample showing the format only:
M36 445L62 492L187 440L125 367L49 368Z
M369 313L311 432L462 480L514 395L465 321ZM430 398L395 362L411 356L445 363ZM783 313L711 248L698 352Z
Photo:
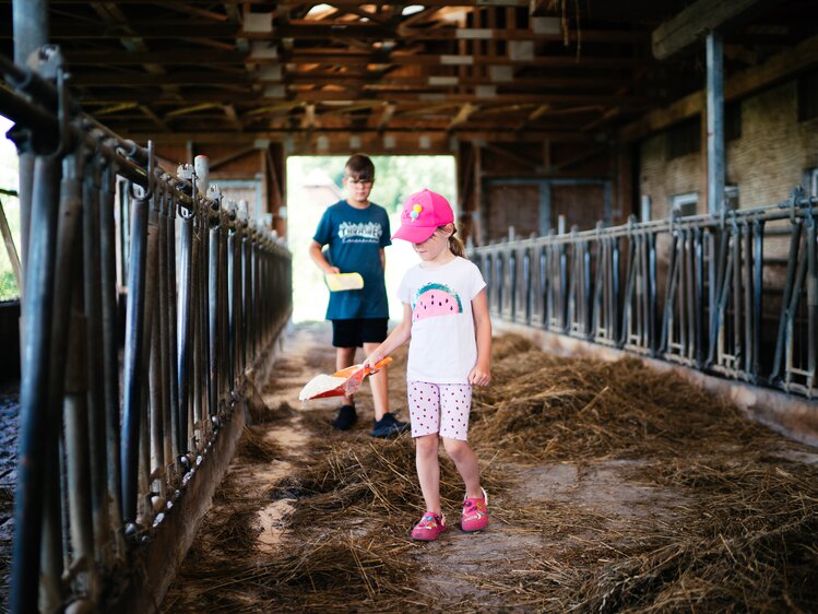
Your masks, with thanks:
M375 165L365 155L354 155L344 166L347 198L324 211L309 247L310 258L327 275L360 273L361 290L330 293L327 319L332 321L332 345L337 370L355 364L355 351L363 346L369 353L387 339L389 306L383 279L386 256L391 245L387 211L369 202L375 181ZM329 261L321 249L329 245ZM369 377L375 403L372 437L391 437L403 433L408 424L395 420L389 411L388 371L380 369ZM347 430L358 420L352 397L344 397L333 428Z

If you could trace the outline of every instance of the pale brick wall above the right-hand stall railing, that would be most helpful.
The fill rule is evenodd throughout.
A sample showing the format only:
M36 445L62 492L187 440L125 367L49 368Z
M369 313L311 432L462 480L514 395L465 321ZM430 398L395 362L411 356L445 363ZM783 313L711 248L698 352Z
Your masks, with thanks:
M818 120L798 121L797 87L789 81L742 101L742 135L726 144L726 182L738 187L738 206L749 209L786 199L818 166ZM666 133L640 146L640 193L651 197L652 216L669 212L674 194L699 192L706 212L707 168L701 152L665 160ZM702 150L707 147L702 135Z

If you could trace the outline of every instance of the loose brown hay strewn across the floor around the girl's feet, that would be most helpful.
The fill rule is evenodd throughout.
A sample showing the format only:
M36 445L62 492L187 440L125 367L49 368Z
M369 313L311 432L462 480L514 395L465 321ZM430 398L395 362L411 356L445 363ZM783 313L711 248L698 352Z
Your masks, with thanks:
M164 610L818 611L818 467L797 460L814 450L637 361L558 358L508 335L495 341L493 376L475 391L470 429L493 494L487 571L447 558L454 540L408 540L423 505L408 437L331 435L325 415L306 414L309 458L256 503L225 497L239 506L226 521L237 534L209 521L203 543L216 543L186 564L186 589ZM441 461L451 510L462 483ZM602 498L594 506L514 482L565 464L578 468L580 484L618 468L623 485L666 503L619 513ZM246 539L257 530L252 515L239 504L284 499L293 504L286 539L260 557ZM226 552L230 565L213 554L225 540L238 544ZM440 565L455 585L448 594L427 586Z

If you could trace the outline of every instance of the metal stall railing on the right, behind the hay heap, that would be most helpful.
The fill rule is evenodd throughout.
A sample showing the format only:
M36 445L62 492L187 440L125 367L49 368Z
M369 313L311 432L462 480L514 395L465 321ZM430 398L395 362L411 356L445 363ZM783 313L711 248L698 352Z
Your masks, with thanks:
M814 398L818 198L473 248L495 318Z

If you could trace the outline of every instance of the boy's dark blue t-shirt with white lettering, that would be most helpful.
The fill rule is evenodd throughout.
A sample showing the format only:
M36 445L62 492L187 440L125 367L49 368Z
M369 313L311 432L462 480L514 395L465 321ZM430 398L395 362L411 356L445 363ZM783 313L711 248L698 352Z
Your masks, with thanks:
M330 246L329 260L342 273L360 273L361 290L330 293L328 320L388 318L380 250L392 245L387 210L375 203L355 209L345 200L328 206L312 239Z

